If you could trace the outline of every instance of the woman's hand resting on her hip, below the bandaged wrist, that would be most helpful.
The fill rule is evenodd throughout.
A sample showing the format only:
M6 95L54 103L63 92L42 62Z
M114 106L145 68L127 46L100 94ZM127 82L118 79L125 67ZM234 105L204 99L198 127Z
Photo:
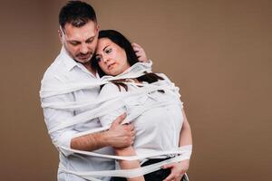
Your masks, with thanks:
M180 181L182 176L189 168L189 159L180 161L179 163L172 163L162 167L163 169L170 168L171 173L163 181Z

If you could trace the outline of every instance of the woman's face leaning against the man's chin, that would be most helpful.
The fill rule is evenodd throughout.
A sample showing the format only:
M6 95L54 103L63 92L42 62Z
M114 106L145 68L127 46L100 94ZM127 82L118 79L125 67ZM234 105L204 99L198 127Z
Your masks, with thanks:
M99 39L95 58L108 75L115 76L130 68L126 52L108 38Z

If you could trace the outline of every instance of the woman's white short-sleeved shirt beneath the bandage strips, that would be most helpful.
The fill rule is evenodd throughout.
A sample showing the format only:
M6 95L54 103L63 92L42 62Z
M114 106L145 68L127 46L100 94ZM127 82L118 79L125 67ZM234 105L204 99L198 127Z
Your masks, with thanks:
M163 74L160 75L164 81L157 81L156 85L170 85L170 80ZM143 89L136 85L128 84L128 91L133 92ZM113 84L109 83L102 87L100 99L105 96L114 95L117 93L126 92L121 87L121 90ZM117 118L122 112L130 112L144 109L145 111L136 119L133 124L136 129L136 138L133 144L138 156L150 154L156 151L166 151L173 148L179 148L180 129L183 123L183 115L181 109L183 108L180 101L180 94L169 91L152 91L150 93L135 94L123 101L123 108L109 110L107 115L100 117L102 126L106 127L112 124L112 120ZM165 106L153 107L160 103L169 104ZM147 109L146 109L147 108Z

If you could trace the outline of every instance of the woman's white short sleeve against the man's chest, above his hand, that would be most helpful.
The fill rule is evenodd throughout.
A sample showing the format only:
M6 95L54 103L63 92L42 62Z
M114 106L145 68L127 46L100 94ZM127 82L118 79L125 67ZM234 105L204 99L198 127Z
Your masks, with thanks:
M119 90L117 85L115 85L113 83L108 83L102 87L102 90L99 94L99 98L104 99L104 98L111 96L111 95L121 95L121 91L123 91L123 90L124 89L122 89L122 88L121 88L121 90ZM121 104L121 105L118 105L118 109L113 108L113 107L109 108L109 110L107 111L107 114L99 117L102 127L111 126L112 121L114 119L119 117L122 113L126 112L126 106L125 106L124 101L121 101L121 99L118 98L118 96L117 96L116 100L120 100L118 102Z

